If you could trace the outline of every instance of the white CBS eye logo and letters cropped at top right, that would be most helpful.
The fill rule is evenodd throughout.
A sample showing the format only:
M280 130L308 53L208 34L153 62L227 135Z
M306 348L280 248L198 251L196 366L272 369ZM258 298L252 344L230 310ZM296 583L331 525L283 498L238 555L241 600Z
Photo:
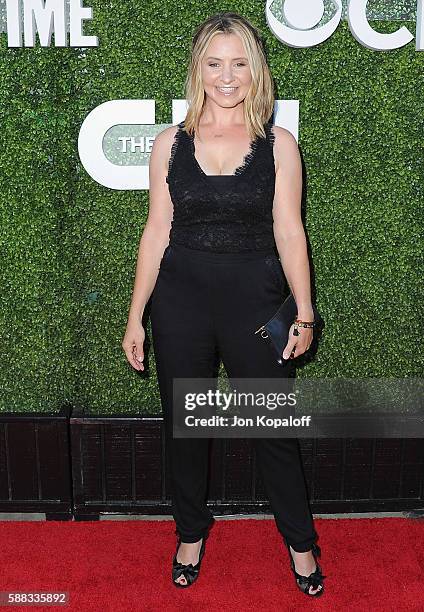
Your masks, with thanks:
M342 0L329 0L334 15L324 25L317 26L324 15L323 0L283 0L284 20L281 23L271 12L275 0L267 0L265 14L271 32L289 47L313 47L324 42L335 32L342 17ZM366 15L368 0L350 0L347 7L349 28L356 40L374 51L389 51L407 45L414 36L405 26L396 32L382 34L369 24ZM417 0L416 50L424 51L424 0ZM312 29L314 28L314 29Z

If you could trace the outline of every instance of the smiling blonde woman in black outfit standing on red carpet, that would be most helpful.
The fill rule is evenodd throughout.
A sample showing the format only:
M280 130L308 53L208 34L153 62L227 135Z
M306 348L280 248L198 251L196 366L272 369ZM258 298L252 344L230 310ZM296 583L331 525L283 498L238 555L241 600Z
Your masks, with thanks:
M290 132L269 123L272 77L246 19L220 13L197 29L186 99L185 120L162 131L152 148L149 216L122 343L130 364L143 370L141 319L151 296L179 536L172 576L184 587L199 575L214 519L205 499L209 440L173 438L172 381L217 376L220 359L229 377L294 376L293 361L278 365L252 333L280 306L286 278L298 318L313 321L298 147ZM301 355L311 341L310 328L295 336L292 325L283 357ZM320 595L324 576L298 440L254 443L297 584Z

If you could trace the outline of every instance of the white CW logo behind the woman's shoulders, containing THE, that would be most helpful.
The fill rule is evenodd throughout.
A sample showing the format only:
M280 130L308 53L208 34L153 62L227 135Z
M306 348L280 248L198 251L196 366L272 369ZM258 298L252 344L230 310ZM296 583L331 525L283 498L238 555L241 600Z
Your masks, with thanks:
M299 101L284 100L284 116L282 102L276 100L274 123L297 139ZM186 112L186 100L172 100L172 125L182 121ZM167 126L156 125L154 100L104 102L81 125L81 163L91 178L109 189L149 189L149 158L158 127L162 131Z

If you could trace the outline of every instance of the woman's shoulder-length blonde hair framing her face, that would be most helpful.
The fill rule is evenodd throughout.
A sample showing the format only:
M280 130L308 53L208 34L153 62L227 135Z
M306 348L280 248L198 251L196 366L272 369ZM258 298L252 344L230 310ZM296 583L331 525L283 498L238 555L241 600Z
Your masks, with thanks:
M222 33L237 34L244 44L252 73L251 86L243 101L244 120L252 140L259 135L265 138L263 124L269 121L274 110L274 81L259 31L247 19L231 12L212 15L198 26L194 33L185 82L188 109L184 129L189 134L192 134L193 129L199 131L200 116L205 102L201 62L212 38Z

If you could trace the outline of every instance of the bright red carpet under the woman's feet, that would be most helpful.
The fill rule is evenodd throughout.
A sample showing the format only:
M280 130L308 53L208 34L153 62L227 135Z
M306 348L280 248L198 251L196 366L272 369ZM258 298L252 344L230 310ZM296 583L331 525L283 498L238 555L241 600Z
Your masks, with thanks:
M188 589L171 583L173 521L0 521L0 591L70 593L67 606L9 610L424 610L424 521L315 519L315 526L327 576L316 600L297 589L274 521L255 519L215 522Z

